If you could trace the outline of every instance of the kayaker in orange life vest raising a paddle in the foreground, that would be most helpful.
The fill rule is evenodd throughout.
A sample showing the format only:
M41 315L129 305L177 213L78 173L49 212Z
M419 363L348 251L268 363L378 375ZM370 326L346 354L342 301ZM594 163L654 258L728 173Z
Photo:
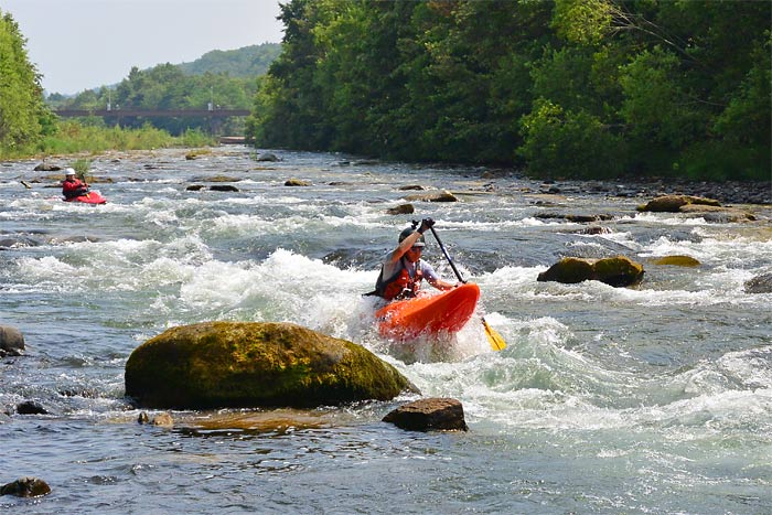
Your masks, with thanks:
M421 287L421 280L438 290L450 290L455 285L439 278L431 265L421 259L426 246L423 232L435 225L431 218L423 218L416 228L408 227L399 234L399 245L390 251L380 267L378 280L375 283L375 294L386 300L416 297Z

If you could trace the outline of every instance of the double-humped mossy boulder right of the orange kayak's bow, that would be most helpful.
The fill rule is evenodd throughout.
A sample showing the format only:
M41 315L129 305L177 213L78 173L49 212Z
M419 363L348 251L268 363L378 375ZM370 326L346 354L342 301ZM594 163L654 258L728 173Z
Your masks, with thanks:
M602 259L567 257L539 273L537 280L567 285L596 280L613 287L626 287L640 283L643 273L641 264L624 256Z

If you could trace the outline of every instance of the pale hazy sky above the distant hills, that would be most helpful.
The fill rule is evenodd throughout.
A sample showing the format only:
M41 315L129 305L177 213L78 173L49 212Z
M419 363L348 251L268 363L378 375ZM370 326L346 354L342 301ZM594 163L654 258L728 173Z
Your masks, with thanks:
M282 0L286 3L287 0ZM46 93L119 83L132 66L279 43L279 0L0 0L26 37Z

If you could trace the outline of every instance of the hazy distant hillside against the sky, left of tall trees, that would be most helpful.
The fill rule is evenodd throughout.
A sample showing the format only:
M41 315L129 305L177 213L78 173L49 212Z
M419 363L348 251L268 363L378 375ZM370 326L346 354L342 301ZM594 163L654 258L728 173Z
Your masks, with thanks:
M262 43L236 50L213 50L192 63L178 66L186 75L226 73L230 77L256 77L264 75L268 66L279 56L280 43Z

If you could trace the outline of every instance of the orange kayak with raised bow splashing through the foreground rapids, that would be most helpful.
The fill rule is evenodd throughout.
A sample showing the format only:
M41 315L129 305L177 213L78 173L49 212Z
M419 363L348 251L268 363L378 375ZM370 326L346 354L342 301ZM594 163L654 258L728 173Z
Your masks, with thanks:
M478 285L461 285L436 296L397 300L375 312L384 337L412 340L421 334L454 333L463 328L480 299Z

